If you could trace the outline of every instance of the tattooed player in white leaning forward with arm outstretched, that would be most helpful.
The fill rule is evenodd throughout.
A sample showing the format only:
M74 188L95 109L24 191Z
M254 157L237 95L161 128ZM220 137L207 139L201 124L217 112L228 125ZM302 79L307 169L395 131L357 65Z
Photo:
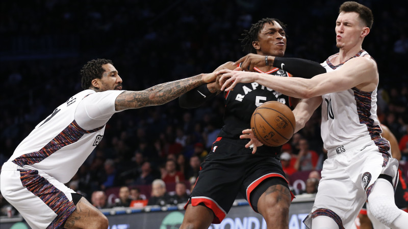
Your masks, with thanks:
M0 190L31 228L108 228L108 219L66 187L104 136L116 112L161 105L215 74L200 74L143 91L122 90L110 60L89 61L81 71L83 91L40 122L3 165Z

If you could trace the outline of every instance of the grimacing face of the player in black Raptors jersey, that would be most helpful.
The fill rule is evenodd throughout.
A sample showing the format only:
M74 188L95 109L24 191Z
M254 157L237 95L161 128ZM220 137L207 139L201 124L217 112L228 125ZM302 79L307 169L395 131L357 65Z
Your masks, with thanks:
M281 25L273 21L273 25L265 23L258 41L253 42L257 54L282 57L286 50L286 34Z

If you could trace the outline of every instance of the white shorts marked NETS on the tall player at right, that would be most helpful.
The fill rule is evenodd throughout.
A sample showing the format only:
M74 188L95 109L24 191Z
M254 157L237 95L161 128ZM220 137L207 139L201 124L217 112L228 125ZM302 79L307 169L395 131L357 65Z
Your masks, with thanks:
M380 153L373 141L364 140L328 151L313 209L303 221L309 228L312 218L319 215L352 228L375 180L380 174L390 174L389 165L395 158Z

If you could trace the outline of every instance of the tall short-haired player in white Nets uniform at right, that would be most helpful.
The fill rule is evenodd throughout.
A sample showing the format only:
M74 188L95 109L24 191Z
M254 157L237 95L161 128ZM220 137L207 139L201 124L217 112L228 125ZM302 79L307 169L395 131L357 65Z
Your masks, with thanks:
M408 213L394 203L398 161L391 157L389 142L381 138L376 116L377 65L362 49L372 22L369 8L356 2L343 3L335 28L340 51L322 64L327 73L311 79L219 71L223 74L221 89L231 90L237 83L257 82L302 98L293 111L295 131L322 104L321 135L328 158L312 212L303 221L309 228L352 228L367 198L373 216L381 223L400 229L408 225ZM259 59L254 62L262 63ZM256 151L261 143L253 138L250 129L243 133L241 138L250 139L246 146L253 144Z

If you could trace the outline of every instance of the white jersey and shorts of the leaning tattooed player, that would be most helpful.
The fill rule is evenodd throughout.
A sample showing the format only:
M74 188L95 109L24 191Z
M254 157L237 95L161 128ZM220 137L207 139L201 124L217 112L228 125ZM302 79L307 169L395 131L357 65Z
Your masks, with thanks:
M84 90L40 122L3 165L0 190L32 228L58 228L75 210L68 182L104 135L123 93Z

